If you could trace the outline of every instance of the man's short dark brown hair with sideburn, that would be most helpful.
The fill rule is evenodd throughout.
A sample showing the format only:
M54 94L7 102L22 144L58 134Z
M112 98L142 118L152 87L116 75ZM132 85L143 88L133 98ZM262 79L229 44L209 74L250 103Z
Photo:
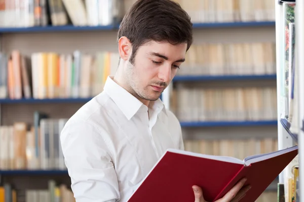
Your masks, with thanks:
M190 0L191 1L191 0ZM170 0L137 0L128 10L118 31L118 39L127 37L132 44L130 63L134 64L137 49L148 41L193 42L192 22L179 4Z

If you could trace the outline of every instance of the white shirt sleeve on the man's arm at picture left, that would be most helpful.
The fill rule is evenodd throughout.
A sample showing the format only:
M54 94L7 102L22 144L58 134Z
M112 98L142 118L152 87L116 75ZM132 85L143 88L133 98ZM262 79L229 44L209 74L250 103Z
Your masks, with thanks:
M120 198L103 132L85 121L67 122L61 132L64 161L77 202L115 202Z

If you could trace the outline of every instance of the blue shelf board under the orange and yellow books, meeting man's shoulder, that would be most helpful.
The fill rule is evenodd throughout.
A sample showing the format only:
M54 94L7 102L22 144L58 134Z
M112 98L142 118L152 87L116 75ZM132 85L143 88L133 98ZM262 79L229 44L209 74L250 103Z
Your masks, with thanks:
M87 103L92 98L55 98L55 99L0 99L0 104L52 104L52 103Z

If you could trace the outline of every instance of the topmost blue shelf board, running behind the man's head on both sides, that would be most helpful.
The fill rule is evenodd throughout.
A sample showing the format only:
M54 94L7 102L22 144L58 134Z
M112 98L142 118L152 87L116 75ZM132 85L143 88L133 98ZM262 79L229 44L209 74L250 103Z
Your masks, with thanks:
M276 23L272 21L271 22L194 23L193 28L263 27L263 26L275 26L275 24ZM119 25L0 27L0 33L104 31L104 30L118 30L118 28Z

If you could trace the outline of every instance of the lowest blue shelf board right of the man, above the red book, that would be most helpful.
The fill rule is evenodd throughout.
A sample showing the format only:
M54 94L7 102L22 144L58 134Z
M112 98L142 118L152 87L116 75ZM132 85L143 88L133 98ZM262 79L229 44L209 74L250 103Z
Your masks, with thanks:
M278 121L206 121L180 122L181 127L277 126Z

